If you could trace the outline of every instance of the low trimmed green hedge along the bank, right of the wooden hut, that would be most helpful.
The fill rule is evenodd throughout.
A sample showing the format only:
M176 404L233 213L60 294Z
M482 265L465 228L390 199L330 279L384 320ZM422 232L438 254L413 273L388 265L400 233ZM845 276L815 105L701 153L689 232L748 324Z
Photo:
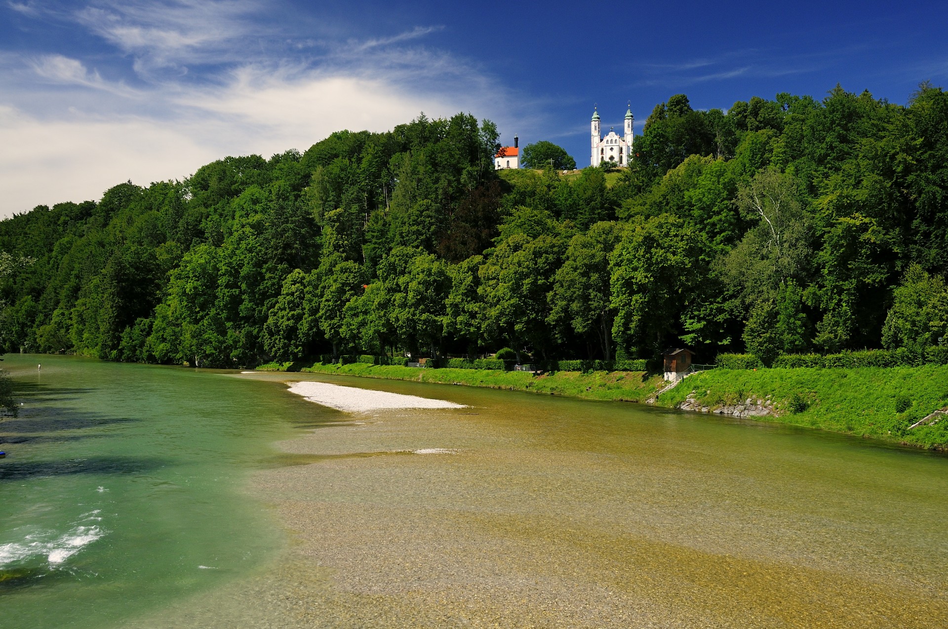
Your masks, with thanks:
M754 354L719 354L716 364L724 369L757 369L763 363ZM836 354L784 354L774 360L775 368L859 368L920 367L948 365L948 347L931 347L922 351L899 350L844 351Z

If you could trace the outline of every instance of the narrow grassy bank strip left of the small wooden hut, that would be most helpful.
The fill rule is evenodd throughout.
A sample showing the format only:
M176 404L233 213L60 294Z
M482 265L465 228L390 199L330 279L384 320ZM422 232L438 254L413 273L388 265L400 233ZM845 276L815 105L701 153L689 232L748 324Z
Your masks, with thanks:
M511 391L532 391L565 395L588 400L617 402L644 402L662 386L662 376L647 375L642 371L557 371L535 376L523 371L488 369L426 369L392 365L264 365L261 369L299 370L314 373L411 380L443 385L487 386Z

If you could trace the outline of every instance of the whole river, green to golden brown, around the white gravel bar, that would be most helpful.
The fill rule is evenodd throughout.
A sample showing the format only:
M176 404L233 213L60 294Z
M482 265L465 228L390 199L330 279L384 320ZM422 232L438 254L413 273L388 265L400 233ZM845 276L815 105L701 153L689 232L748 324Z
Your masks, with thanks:
M3 366L5 629L948 624L944 456L461 386ZM289 379L468 407L346 415Z

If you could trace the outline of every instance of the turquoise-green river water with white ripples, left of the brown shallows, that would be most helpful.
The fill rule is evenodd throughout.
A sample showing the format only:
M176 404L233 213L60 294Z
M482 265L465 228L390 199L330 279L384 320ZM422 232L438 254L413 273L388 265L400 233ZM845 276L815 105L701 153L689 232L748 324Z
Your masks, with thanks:
M292 396L209 371L4 358L24 407L0 422L0 625L110 626L281 547L244 490L293 434Z

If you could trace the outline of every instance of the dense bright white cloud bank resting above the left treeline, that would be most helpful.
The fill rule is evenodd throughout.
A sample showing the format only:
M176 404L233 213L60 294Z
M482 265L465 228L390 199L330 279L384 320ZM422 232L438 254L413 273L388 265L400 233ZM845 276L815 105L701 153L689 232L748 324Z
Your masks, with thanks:
M385 81L347 76L287 78L243 68L216 88L179 91L170 118L58 119L0 108L0 216L36 205L98 200L127 179L183 179L228 154L268 157L305 150L340 129L385 131L419 112L447 116L461 105Z

